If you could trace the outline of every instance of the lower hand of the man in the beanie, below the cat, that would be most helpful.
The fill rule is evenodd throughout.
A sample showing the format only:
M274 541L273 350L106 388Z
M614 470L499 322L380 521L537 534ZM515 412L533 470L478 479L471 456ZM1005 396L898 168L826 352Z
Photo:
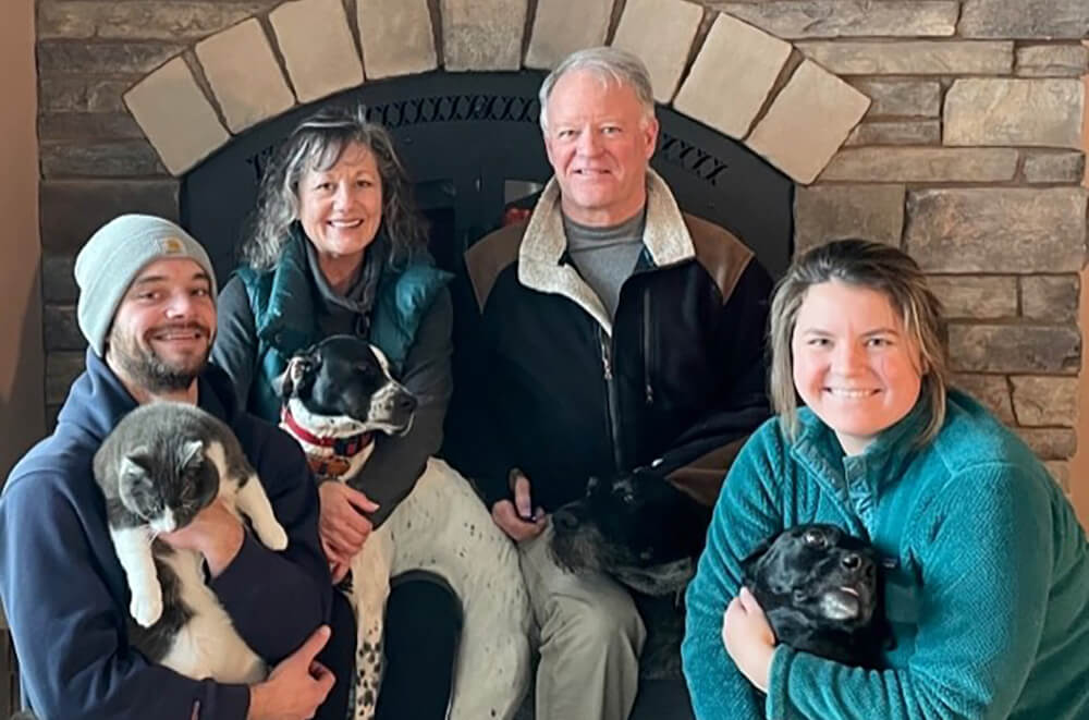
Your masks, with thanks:
M329 626L314 631L303 645L272 669L269 679L249 686L246 720L309 720L326 701L337 679L315 660L329 642Z

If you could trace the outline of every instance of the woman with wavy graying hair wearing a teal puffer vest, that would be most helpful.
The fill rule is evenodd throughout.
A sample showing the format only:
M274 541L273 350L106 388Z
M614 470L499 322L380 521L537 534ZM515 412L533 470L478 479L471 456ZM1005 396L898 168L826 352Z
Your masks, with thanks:
M335 582L442 441L452 309L448 276L427 254L411 190L392 138L363 108L318 111L295 127L267 169L244 263L220 297L212 361L254 414L276 423L276 382L289 358L341 333L377 345L420 401L411 431L376 439L357 477L365 492L343 483L318 486L319 533ZM461 627L457 599L437 576L421 573L394 583L388 608L378 717L443 718ZM333 619L330 646L351 666L355 633L345 626L354 622L339 593ZM338 681L333 692L346 703L352 678Z

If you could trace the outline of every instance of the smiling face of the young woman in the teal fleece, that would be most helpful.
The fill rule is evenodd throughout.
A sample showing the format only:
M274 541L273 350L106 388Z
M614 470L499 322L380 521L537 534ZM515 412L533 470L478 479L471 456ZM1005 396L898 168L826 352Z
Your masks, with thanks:
M806 291L792 340L794 386L859 454L919 399L918 345L881 292L839 281Z

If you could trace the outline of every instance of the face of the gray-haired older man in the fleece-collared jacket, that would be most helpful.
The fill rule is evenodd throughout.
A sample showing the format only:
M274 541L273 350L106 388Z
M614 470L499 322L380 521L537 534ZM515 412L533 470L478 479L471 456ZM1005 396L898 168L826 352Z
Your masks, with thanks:
M556 82L544 111L544 148L564 213L594 227L635 216L658 138L658 121L646 117L635 90L576 70Z

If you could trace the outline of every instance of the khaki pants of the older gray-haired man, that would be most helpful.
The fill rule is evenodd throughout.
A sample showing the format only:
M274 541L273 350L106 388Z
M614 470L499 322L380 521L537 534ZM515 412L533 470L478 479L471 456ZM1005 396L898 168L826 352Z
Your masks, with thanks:
M600 573L568 573L543 533L523 542L522 573L540 633L536 720L626 720L647 631L627 590Z

